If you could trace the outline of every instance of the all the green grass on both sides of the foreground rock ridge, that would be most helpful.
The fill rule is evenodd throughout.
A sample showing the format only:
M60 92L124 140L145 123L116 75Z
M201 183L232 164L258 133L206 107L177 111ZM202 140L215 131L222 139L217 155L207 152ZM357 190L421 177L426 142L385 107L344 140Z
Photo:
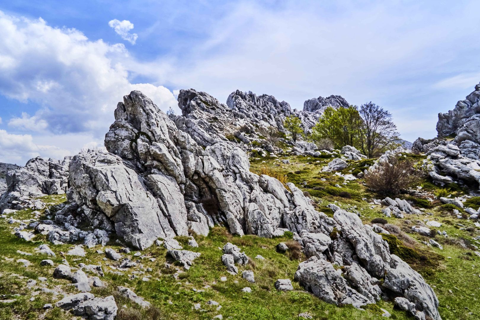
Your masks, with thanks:
M381 217L380 207L362 201L362 198L375 197L374 194L368 192L361 184L361 181L349 182L343 185L343 178L339 178L332 173L319 172L325 163L331 160L326 158L308 158L304 156L290 156L290 164L281 164L276 158L261 158L255 160L252 158L252 171L260 172L269 170L272 175L287 175L288 181L294 182L303 190L309 191L312 199L317 201L318 209L330 214L326 205L337 201L337 204L343 208L350 210L358 210L365 223L368 223L375 217ZM264 162L265 161L265 162ZM316 161L320 161L316 163ZM308 164L312 162L312 164ZM351 162L350 167L345 169L343 173L354 170L358 167L365 166L364 161ZM300 171L299 173L294 173ZM322 181L324 178L326 181ZM301 185L306 181L307 185ZM335 184L342 186L341 189L334 187ZM316 187L313 190L312 188ZM425 189L435 190L435 186L427 182L424 183ZM342 198L335 196L340 191L348 191L352 198ZM375 197L379 198L379 197ZM61 196L46 197L44 201L50 201L52 205L64 201ZM356 206L356 208L354 208ZM422 275L425 276L427 282L434 286L434 290L440 300L440 313L443 319L479 319L480 307L476 303L480 296L480 270L477 270L480 257L472 254L470 249L461 248L456 238L466 238L472 241L477 235L477 231L461 230L461 223L471 226L468 220L458 220L450 215L441 213L438 209L428 209L433 216L428 216L444 223L440 230L446 230L450 235L449 238L437 236L435 240L442 243L444 250L427 247L421 241L428 240L417 234L409 234L410 237L417 240L415 252L421 255L418 259L417 255L404 257L410 259L410 263ZM32 217L31 211L23 211L17 213L16 219L28 219ZM387 218L389 223L398 225L405 231L408 231L416 219L424 219L427 216L409 216L406 219ZM409 221L406 221L410 219ZM35 243L19 240L11 233L11 228L18 224L10 225L7 219L0 220L0 295L1 299L16 298L17 301L10 304L0 304L0 320L3 319L71 319L71 315L63 312L58 308L53 308L47 312L42 310L45 303L54 303L59 297L51 294L39 294L34 301L30 301L31 289L26 287L28 279L37 279L40 276L48 278L48 288L63 290L66 293L74 293L75 289L70 285L69 281L57 280L52 278L53 267L42 267L39 262L47 259L46 256L34 254L33 256L23 256L16 251L35 252L34 249L42 243L48 243L44 236L37 235ZM471 229L469 229L471 230ZM291 261L286 255L279 254L275 250L278 242L287 240L286 238L265 239L255 236L232 237L225 228L215 227L208 237L196 236L199 248L190 248L186 245L184 237L178 238L184 244L184 249L201 252L200 258L194 261L192 268L184 273L180 273L178 279L173 277L176 269L166 268L166 249L163 247L153 246L145 251L145 256L141 260L144 275L150 275L151 280L144 282L140 278L130 279L130 272L125 275L115 275L107 273L108 265L118 265L115 261L104 261L103 254L97 254L96 249L99 247L86 249L87 255L84 258L65 256L71 266L78 263L102 264L105 277L102 278L104 283L108 284L106 288L93 288L92 292L96 296L108 296L113 294L117 300L117 305L123 310L123 315L118 317L121 319L212 319L217 314L222 314L224 319L297 319L299 312L309 312L314 319L381 319L382 317L375 311L375 308L362 311L351 307L337 308L333 305L324 303L315 298L311 294L305 293L300 286L293 282L294 291L277 292L274 283L278 278L289 278L293 280L293 274L297 270L299 261ZM253 259L255 265L247 265L240 267L240 275L233 276L226 272L220 257L222 251L218 247L223 247L227 242L238 245L245 250L247 255L254 258L257 254L266 258L264 261ZM71 245L53 246L50 248L57 254L56 258L50 258L55 265L61 262L62 255L60 252L68 251ZM120 249L114 241L108 244L108 247ZM133 252L124 254L135 261L136 257ZM447 258L447 257L451 257ZM9 261L13 258L13 261ZM156 261L149 261L148 258L156 258ZM16 263L17 259L28 259L32 264L24 268L21 264ZM151 272L146 271L152 268ZM252 269L255 274L255 284L250 284L241 278L241 270ZM141 270L140 268L135 269ZM227 276L227 282L221 282L220 278ZM24 278L23 278L24 277ZM115 287L124 285L132 288L139 296L144 297L157 307L158 314L161 316L155 318L153 311L141 310L131 301L118 296L115 293ZM204 288L205 285L210 287ZM241 289L245 286L252 288L252 293L242 293ZM194 291L204 290L203 292ZM449 290L452 290L450 292ZM14 297L12 295L20 294ZM216 300L222 308L217 311L215 307L206 305L208 300ZM193 304L200 303L203 310L194 310ZM126 305L126 308L122 306ZM391 303L381 301L379 307L387 309L392 313L392 319L408 319L405 312L398 311L393 308ZM468 309L467 309L468 308ZM138 318L127 318L135 312L141 314ZM472 314L469 314L471 312ZM120 319L121 318L121 319ZM383 318L382 318L383 319Z

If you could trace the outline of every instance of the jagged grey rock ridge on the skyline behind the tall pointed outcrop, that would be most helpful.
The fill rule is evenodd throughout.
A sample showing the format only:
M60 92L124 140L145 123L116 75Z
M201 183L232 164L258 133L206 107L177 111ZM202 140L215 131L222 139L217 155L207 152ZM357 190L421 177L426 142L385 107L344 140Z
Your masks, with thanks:
M335 97L335 96L332 96ZM348 105L345 99L336 96L321 99L324 107L341 104ZM315 100L315 99L314 99ZM338 100L338 101L337 101ZM272 95L255 95L252 92L237 90L228 96L227 104L222 104L211 95L197 92L193 89L180 90L179 107L181 116L172 116L177 128L187 132L200 146L207 147L217 142L225 141L235 144L244 151L252 150L252 145L261 146L267 152L283 152L274 143L265 139L272 130L285 134L283 126L285 117L295 115L301 119L306 132L316 124L323 109L299 111L292 109L285 101L278 101ZM316 100L315 100L316 101ZM304 149L301 142L291 143L292 146ZM298 150L300 153L307 150Z

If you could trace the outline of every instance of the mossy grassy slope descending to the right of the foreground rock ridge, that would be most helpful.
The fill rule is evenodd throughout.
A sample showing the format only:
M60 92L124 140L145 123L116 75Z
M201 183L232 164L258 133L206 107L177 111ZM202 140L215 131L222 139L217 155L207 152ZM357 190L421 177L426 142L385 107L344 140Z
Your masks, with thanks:
M422 156L418 155L409 155L408 157L418 160L422 159ZM318 209L327 214L331 211L325 208L325 206L328 203L337 201L337 204L341 204L344 209L353 209L353 206L357 206L354 210L358 210L361 213L361 219L364 223L370 223L376 217L384 218L380 211L380 206L375 205L372 208L372 205L367 201L361 200L362 198L368 198L369 200L372 198L383 198L366 190L361 179L342 185L342 182L344 182L343 178L338 178L331 172L320 172L322 166L331 161L331 158L319 159L305 156L288 156L285 157L285 159L290 161L288 165L281 164L279 161L281 159L283 158L253 158L251 170L260 172L262 168L265 170L266 167L272 172L272 175L286 174L287 181L294 182L300 189L308 191L311 198L317 202ZM320 163L316 165L316 161L320 161ZM308 162L312 164L308 164ZM348 163L349 167L342 171L344 174L364 165L363 161L348 161ZM301 171L300 174L295 174L295 171L298 170ZM322 181L320 178L325 178L327 181ZM307 182L306 186L301 185L303 181ZM336 183L342 186L342 190L348 191L352 198L346 199L328 194L327 192L336 192L336 189L333 189ZM432 193L436 193L441 189L429 181L423 181L420 185L423 187L423 190L428 190ZM323 190L312 190L310 189L312 186L320 186ZM463 192L462 190L449 191L453 195L460 195ZM318 197L315 195L318 195ZM401 199L415 200L408 195L400 195L399 197ZM431 208L425 210L425 212L432 213L432 215L406 215L405 219L394 217L386 219L389 224L399 226L402 231L408 233L409 237L416 240L414 250L419 253L420 259L416 256L405 256L402 258L407 260L414 269L425 277L427 283L433 286L433 290L440 302L439 310L442 318L480 319L480 306L477 303L477 300L480 299L480 257L474 254L473 250L466 249L461 245L465 242L471 242L479 246L480 242L476 240L476 237L480 235L480 230L473 225L471 220L457 219L448 212L442 212L436 202L438 201L435 201ZM428 242L430 238L411 233L411 226L424 223L424 219L436 220L443 224L436 229L440 231L445 230L449 237L445 238L437 235L434 239L442 244L444 250L425 245L422 242Z

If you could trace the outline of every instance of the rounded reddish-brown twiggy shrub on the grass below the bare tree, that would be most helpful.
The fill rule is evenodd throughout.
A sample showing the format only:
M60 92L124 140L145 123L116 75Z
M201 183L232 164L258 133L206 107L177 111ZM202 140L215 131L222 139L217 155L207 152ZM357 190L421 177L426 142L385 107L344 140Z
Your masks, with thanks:
M421 173L414 165L413 161L391 157L389 161L379 164L376 170L366 174L365 183L378 193L396 195L400 190L420 181Z

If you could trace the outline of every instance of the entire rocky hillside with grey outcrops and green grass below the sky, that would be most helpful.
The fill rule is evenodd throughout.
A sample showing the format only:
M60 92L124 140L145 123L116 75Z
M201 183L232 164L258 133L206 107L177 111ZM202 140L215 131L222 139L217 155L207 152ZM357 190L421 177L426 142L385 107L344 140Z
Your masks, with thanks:
M169 117L132 91L108 152L8 173L0 319L480 316L478 164L456 144L366 159L288 140L286 116L309 130L340 96L303 111L240 91L178 101ZM427 177L398 198L368 190L363 176L395 158Z

